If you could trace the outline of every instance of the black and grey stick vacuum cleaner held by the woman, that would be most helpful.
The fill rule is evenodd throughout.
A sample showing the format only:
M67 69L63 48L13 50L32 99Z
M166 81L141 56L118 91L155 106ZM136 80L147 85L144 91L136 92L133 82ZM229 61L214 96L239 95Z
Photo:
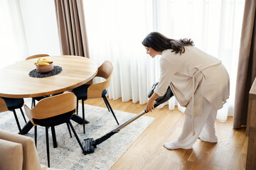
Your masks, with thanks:
M150 97L154 93L154 89L156 88L157 84L158 83L156 83L156 84L154 84L152 86L151 91L149 92L148 97ZM174 94L172 93L170 87L168 87L168 89L166 91L166 94L164 96L159 96L158 98L156 98L156 100L154 102L154 108L159 106L161 103L164 103L164 102L168 101L172 96L174 96ZM134 120L137 120L137 118L141 117L145 113L147 113L146 110L142 111L138 115L134 116L134 118L131 118L130 120L127 120L127 122L123 123L122 125L117 126L117 128L115 128L114 130L108 132L106 135L98 138L97 140L94 140L93 138L87 138L87 139L83 140L82 141L82 152L84 154L91 154L91 153L93 153L95 151L95 148L97 147L97 145L99 145L100 143L102 143L105 140L109 139L110 137L112 137L112 135L114 135L115 133L119 132L119 130L121 130L125 126L129 125L129 123L132 123Z

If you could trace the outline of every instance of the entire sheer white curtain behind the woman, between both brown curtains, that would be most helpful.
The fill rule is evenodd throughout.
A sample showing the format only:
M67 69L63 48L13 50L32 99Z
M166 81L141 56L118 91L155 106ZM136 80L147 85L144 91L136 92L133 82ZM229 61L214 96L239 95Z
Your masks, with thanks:
M151 31L169 38L191 38L218 57L230 74L230 99L218 119L232 115L240 31L245 0L84 0L92 60L114 63L109 97L144 104L159 79L159 57L146 55L142 40ZM172 98L169 108L177 102ZM178 106L183 111L184 108Z

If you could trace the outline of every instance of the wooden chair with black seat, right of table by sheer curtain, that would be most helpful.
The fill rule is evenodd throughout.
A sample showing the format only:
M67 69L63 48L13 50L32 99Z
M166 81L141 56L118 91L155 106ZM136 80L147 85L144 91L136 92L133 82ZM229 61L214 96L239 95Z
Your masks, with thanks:
M95 77L102 77L105 79L105 81L92 84L92 80L89 81L87 84L84 84L82 86L79 86L75 89L73 89L73 93L75 96L77 96L78 101L82 100L82 121L83 121L83 131L85 133L85 106L84 102L87 99L91 98L103 98L105 101L105 104L107 106L108 111L112 112L112 115L114 116L114 119L117 121L116 116L114 115L114 111L112 110L109 101L107 101L107 87L110 86L110 79L112 76L113 71L113 64L110 61L105 61L99 68L98 72ZM77 102L78 103L78 102ZM77 106L77 113L78 113L78 106ZM117 121L117 125L119 125Z

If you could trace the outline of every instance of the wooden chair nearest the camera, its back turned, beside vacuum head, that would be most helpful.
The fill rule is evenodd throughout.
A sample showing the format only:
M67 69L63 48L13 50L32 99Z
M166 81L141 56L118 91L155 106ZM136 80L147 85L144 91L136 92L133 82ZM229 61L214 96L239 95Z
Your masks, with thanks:
M46 128L46 150L48 167L50 167L50 153L49 153L49 140L48 140L48 128L54 130L54 126L67 123L73 130L73 133L78 140L78 144L82 149L82 144L78 138L78 135L70 122L76 108L76 97L73 93L67 92L56 96L50 96L43 98L39 101L36 106L32 109L28 106L24 106L26 115L28 116L31 123L35 126L35 143L36 143L36 132L37 125L41 125ZM68 127L69 127L68 126ZM70 130L69 130L70 131ZM53 137L55 137L55 130Z

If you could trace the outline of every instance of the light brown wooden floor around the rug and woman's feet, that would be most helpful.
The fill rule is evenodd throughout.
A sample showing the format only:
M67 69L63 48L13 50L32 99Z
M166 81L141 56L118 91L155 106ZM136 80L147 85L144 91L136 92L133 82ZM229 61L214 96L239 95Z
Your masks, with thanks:
M113 110L140 113L145 105L110 100ZM86 104L106 107L102 98L87 100ZM168 150L164 142L176 140L181 133L184 114L176 108L169 111L167 106L146 113L155 120L129 147L127 152L112 166L114 169L245 169L247 142L245 128L233 129L233 117L226 123L215 122L218 143L197 140L193 149ZM136 121L139 121L136 120ZM128 126L127 126L128 127Z

